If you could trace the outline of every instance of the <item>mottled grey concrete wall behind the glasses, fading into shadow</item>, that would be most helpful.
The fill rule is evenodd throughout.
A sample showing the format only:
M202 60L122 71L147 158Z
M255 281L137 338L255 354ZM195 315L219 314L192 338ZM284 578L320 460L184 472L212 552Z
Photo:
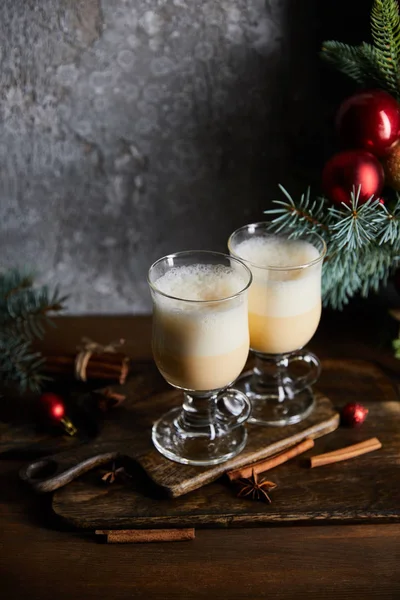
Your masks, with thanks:
M147 312L152 261L262 219L318 137L317 4L1 0L3 266Z

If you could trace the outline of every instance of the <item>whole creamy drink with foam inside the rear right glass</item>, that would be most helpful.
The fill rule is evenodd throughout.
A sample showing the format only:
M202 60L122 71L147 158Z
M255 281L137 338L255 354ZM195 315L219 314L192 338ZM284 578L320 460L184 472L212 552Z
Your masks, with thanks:
M234 252L257 265L249 264L253 273L249 290L251 349L282 354L305 346L321 317L321 262L287 271L267 267L305 264L318 258L318 250L305 241L260 237L239 244Z

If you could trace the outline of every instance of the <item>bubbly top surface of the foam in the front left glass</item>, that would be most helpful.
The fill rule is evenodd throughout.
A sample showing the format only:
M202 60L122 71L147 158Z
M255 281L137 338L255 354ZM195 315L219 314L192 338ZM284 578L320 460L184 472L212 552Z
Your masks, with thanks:
M224 265L174 267L155 281L158 290L181 300L223 300L240 292L245 281Z

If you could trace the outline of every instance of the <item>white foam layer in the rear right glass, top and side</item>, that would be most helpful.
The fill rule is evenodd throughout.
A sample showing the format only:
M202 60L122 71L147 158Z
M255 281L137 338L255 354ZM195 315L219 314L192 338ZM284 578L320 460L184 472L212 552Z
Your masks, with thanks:
M315 246L304 240L278 236L254 237L234 248L248 261L253 273L249 290L249 311L268 317L301 315L321 301L321 262L296 269L318 259ZM269 270L268 267L283 269ZM285 267L292 270L284 270Z

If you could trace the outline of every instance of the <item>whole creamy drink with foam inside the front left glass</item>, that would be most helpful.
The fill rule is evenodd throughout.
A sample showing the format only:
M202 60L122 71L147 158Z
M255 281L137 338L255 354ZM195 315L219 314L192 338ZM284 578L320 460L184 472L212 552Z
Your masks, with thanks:
M221 269L201 273L180 267L156 285L165 293L192 300L182 302L154 296L153 355L172 385L209 391L226 387L242 371L249 352L247 295L222 302L243 289L234 272Z

